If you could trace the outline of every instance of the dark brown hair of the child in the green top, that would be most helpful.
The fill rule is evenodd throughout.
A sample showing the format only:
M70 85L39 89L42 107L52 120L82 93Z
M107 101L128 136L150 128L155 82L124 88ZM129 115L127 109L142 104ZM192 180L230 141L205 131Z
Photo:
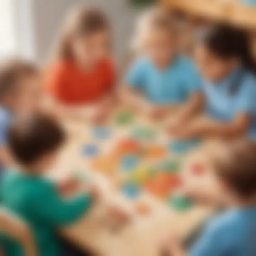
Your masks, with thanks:
M20 164L29 165L43 154L57 150L64 137L62 127L53 118L34 114L17 118L11 124L9 147Z

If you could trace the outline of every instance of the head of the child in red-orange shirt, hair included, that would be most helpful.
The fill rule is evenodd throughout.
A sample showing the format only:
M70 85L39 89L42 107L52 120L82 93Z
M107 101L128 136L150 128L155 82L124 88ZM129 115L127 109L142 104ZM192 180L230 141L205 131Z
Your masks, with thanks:
M80 6L64 24L58 57L94 64L110 53L110 33L110 24L101 10Z

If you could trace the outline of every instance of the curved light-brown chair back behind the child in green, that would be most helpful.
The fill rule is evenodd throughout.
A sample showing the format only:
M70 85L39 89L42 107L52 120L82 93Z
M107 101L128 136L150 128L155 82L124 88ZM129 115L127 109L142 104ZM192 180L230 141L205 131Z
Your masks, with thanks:
M26 256L36 256L36 248L29 228L11 213L0 210L0 230L21 242Z

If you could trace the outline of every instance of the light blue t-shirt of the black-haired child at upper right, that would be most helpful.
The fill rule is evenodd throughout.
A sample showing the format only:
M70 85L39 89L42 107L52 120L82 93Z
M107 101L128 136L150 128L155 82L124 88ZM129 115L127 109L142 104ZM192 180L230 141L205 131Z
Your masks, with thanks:
M231 121L238 113L252 117L249 137L256 138L256 76L238 68L222 82L203 82L207 114L222 121Z

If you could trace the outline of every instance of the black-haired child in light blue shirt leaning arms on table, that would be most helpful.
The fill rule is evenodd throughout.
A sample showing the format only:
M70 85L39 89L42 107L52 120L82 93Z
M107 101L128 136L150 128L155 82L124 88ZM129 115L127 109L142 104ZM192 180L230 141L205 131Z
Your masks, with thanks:
M196 47L203 76L201 100L187 108L205 109L209 120L186 124L179 119L170 131L177 137L216 136L256 138L256 63L248 34L229 25L210 26ZM194 111L195 112L195 111Z

